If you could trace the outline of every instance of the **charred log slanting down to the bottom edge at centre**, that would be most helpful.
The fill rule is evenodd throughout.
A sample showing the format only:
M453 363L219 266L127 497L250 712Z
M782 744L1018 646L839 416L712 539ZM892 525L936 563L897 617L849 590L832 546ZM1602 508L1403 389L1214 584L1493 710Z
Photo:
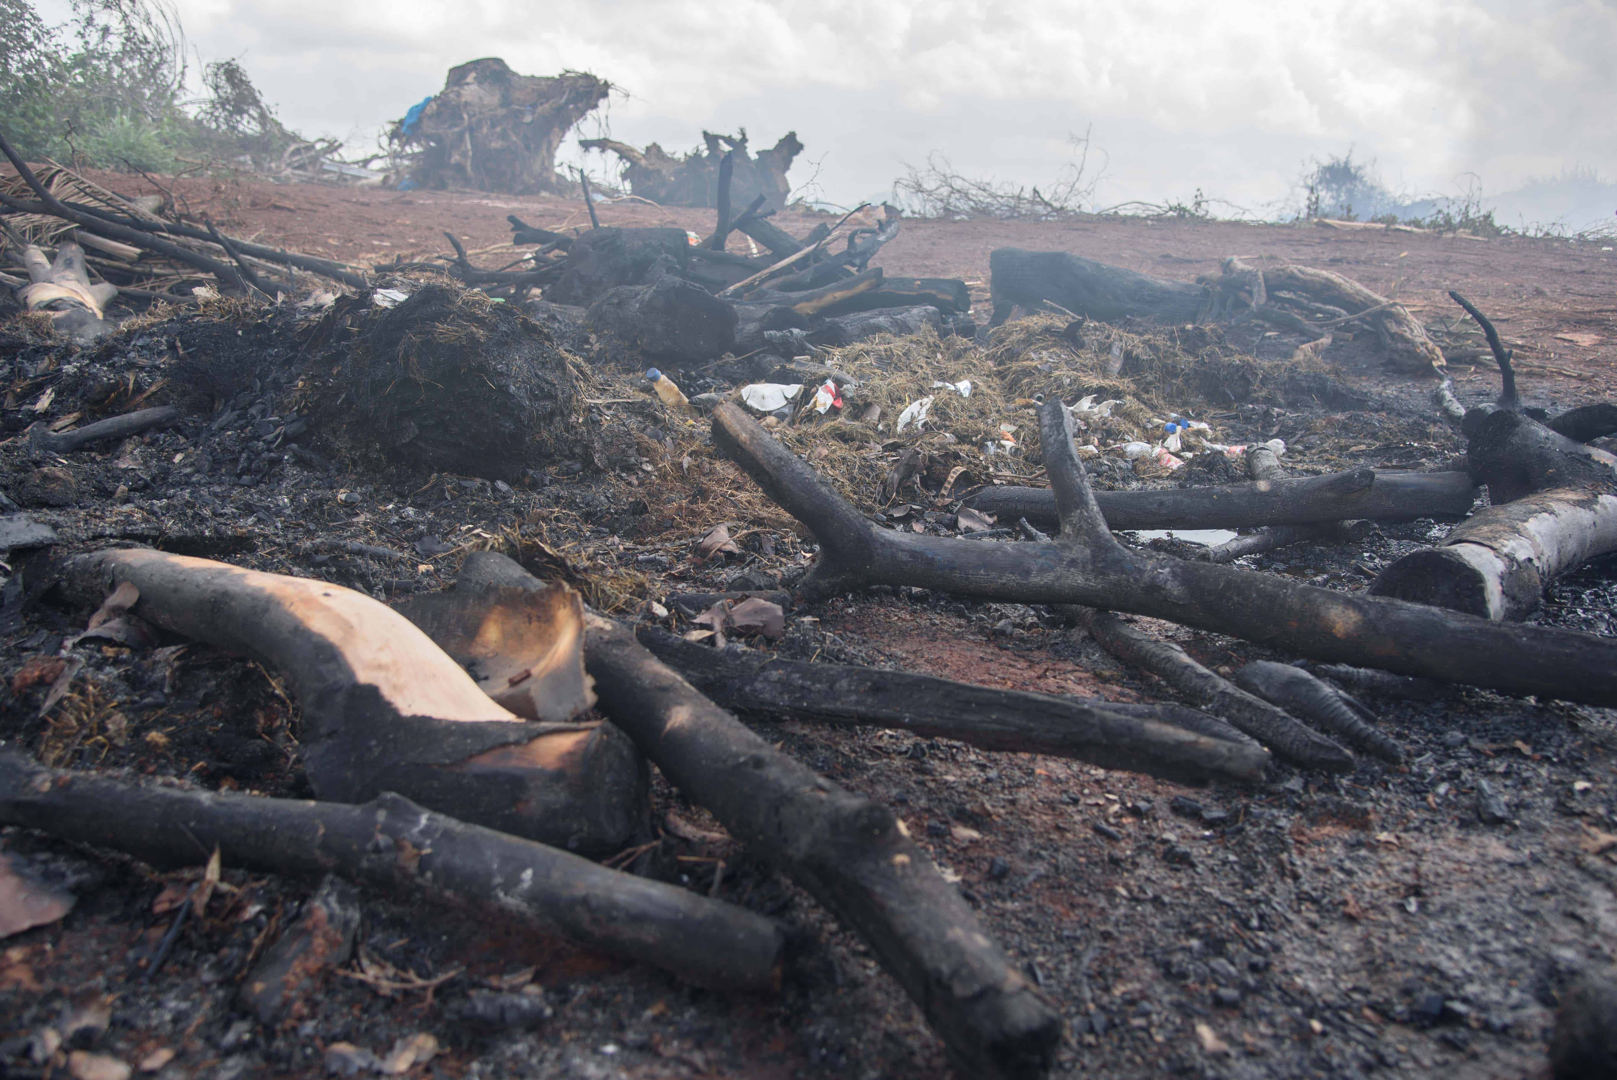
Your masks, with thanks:
M1049 1072L1061 1015L891 810L776 752L623 626L592 616L585 656L602 710L669 781L865 939L962 1075Z

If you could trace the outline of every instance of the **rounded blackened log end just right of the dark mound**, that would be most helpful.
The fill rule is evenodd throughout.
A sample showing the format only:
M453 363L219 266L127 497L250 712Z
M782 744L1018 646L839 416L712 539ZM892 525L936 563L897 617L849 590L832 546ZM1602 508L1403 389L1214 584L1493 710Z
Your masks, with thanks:
M703 364L736 344L736 309L673 273L611 289L584 317L589 330L660 364Z

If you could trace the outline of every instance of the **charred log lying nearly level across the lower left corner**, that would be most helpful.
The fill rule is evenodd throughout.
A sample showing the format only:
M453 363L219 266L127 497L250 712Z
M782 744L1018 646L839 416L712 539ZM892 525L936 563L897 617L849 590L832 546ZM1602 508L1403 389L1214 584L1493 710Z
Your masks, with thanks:
M160 787L47 770L0 750L0 821L188 867L407 888L437 902L652 964L702 986L779 983L784 934L745 909L433 813L403 795L364 805Z

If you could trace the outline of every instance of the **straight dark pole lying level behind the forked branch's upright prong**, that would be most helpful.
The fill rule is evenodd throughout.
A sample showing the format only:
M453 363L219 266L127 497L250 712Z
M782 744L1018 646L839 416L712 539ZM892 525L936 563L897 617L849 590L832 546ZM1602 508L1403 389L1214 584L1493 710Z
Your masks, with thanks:
M1460 517L1476 501L1476 483L1463 472L1352 469L1205 488L1095 491L1095 501L1112 529L1247 529L1350 517ZM965 500L965 506L1004 521L1056 524L1056 496L1049 488L985 488Z

